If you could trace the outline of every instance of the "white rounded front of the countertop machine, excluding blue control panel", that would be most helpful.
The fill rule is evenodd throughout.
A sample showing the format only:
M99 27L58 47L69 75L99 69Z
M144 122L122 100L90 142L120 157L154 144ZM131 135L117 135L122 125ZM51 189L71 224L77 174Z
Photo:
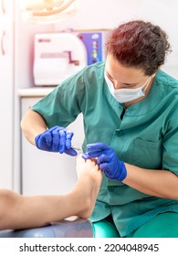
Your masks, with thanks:
M34 83L58 85L87 65L87 49L71 33L37 34L35 37Z

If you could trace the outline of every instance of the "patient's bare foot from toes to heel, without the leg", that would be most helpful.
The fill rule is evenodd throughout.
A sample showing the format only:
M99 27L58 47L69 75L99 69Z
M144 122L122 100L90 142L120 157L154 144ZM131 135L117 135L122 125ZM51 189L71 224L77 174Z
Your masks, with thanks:
M79 205L83 206L78 216L82 219L88 219L99 194L102 173L95 159L85 160L79 155L77 158L77 174L79 179L75 190L79 194Z

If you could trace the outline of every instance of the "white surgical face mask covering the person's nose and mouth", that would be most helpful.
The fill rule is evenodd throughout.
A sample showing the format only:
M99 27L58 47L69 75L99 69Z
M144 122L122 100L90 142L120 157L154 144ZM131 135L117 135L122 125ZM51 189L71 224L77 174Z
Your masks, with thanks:
M148 80L146 80L145 83L139 88L114 89L114 85L111 82L111 80L109 80L106 73L104 73L104 78L108 84L111 95L116 99L116 101L118 101L120 103L133 101L133 100L141 98L142 96L145 96L145 91L149 85L150 80L152 79L152 77L149 77ZM144 88L144 90L143 90L143 88Z

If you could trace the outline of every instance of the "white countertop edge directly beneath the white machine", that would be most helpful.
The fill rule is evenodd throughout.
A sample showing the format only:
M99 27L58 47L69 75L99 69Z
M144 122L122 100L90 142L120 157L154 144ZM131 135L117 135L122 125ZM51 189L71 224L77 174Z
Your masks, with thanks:
M20 97L43 97L53 91L55 87L31 87L18 90Z

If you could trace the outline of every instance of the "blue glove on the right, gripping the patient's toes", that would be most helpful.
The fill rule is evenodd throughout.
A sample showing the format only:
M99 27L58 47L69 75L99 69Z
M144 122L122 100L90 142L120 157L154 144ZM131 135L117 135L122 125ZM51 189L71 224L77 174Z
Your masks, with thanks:
M88 144L89 152L82 154L84 159L97 158L100 170L110 179L122 181L127 176L127 170L122 161L120 161L114 150L103 143Z

